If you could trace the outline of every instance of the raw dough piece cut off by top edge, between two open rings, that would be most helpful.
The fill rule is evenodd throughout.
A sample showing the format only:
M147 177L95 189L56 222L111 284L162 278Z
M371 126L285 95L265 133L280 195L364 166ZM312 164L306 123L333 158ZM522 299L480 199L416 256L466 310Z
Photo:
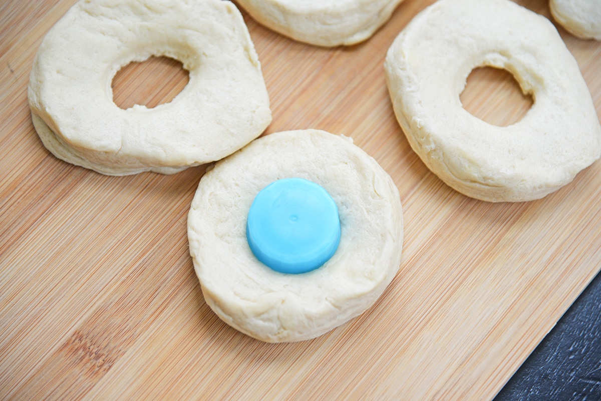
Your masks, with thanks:
M317 46L367 40L403 0L238 0L279 34Z

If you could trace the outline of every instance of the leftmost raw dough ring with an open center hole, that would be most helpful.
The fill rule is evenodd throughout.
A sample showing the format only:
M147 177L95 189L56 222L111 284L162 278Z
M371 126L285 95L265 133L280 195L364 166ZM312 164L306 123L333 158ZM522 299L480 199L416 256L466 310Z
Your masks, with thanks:
M120 109L112 78L151 55L181 61L188 85L170 103ZM50 152L109 175L174 173L219 160L271 121L242 15L221 0L79 1L44 37L28 97Z

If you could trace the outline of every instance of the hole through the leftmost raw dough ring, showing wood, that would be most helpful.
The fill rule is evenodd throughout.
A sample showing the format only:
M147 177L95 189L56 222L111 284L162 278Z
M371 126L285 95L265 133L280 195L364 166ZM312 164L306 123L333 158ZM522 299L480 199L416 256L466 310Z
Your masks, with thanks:
M188 80L188 71L175 59L151 56L142 62L133 61L115 74L111 85L113 101L121 109L134 104L151 109L173 100Z

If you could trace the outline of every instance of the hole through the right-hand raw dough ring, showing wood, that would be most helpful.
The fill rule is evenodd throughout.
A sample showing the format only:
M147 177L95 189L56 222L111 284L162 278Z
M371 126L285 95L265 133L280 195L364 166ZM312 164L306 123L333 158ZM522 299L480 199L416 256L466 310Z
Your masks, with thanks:
M472 70L460 100L471 115L499 127L520 121L534 104L513 74L492 67Z

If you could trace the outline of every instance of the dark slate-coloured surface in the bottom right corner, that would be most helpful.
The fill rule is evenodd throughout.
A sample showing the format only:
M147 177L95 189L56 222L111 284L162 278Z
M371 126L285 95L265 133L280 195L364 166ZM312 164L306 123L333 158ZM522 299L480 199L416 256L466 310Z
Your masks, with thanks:
M494 401L601 401L601 273Z

